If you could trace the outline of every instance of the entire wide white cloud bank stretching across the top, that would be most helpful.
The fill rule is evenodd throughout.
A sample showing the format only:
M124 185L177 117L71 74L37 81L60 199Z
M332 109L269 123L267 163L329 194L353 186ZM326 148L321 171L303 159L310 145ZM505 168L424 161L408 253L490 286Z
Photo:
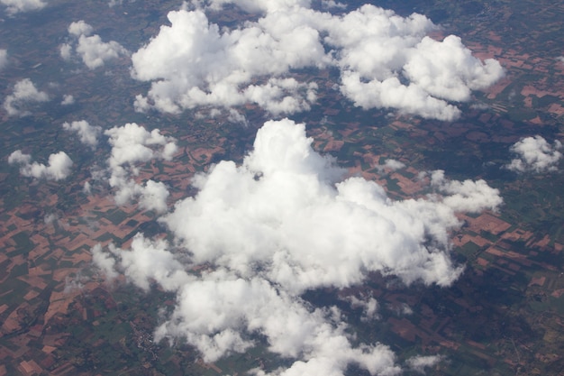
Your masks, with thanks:
M459 109L450 102L468 101L472 90L503 76L496 60L476 59L458 37L426 37L436 26L420 14L404 18L364 5L339 16L300 0L237 5L263 15L220 30L205 10L168 14L170 25L132 55L133 78L151 82L147 96L137 96L138 110L254 103L275 115L291 114L309 109L318 89L293 72L335 67L341 93L355 105L451 120Z

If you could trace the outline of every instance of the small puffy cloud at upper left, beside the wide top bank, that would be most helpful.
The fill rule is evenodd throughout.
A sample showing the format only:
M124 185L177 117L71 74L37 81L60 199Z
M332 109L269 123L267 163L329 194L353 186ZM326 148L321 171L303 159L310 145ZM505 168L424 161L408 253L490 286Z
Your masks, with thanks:
M96 69L104 66L108 60L114 60L129 53L117 41L102 41L99 35L92 35L93 31L92 26L83 20L70 23L68 34L74 41L60 46L60 56L64 60L70 60L75 50L88 69Z

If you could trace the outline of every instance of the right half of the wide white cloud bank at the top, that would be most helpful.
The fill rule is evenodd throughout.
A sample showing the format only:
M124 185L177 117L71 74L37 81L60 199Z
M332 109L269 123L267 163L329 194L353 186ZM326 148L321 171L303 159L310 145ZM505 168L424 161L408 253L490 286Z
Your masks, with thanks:
M345 14L327 37L339 47L341 92L363 108L397 108L426 118L452 120L470 91L501 78L496 60L472 57L456 36L434 41L436 29L421 14L403 18L372 5Z

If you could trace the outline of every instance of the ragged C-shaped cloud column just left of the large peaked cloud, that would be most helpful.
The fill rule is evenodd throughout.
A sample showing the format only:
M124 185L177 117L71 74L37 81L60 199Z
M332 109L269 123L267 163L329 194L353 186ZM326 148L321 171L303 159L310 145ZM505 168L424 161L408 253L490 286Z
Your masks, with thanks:
M138 184L132 176L138 174L136 163L154 159L171 160L177 151L176 141L160 134L159 129L151 132L141 125L130 123L114 127L104 133L109 137L112 153L108 159L109 183L116 189L115 202L123 205L139 197L141 207L164 212L167 210L168 189L162 182L146 181Z

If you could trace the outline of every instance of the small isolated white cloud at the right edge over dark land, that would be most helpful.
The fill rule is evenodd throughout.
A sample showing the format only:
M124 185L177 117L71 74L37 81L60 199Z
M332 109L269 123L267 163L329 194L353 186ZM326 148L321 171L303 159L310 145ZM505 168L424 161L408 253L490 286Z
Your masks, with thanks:
M507 170L515 172L535 172L558 170L559 160L562 159L562 143L558 140L550 145L543 137L525 137L511 146L510 151L516 155L514 160L505 165Z

